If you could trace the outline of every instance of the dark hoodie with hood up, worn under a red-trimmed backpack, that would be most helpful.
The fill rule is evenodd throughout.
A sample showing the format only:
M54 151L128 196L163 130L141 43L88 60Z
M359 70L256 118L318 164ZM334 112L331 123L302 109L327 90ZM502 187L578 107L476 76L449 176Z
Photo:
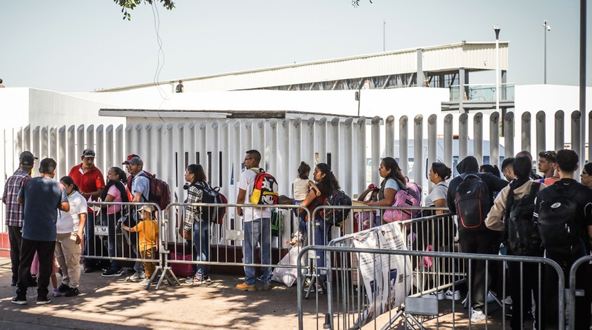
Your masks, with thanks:
M473 156L467 156L465 159L461 160L461 162L456 165L456 170L458 170L458 173L460 174L473 173L478 175L485 183L485 186L487 186L487 190L489 190L490 194L494 191L500 191L508 185L508 181L496 177L491 173L479 173L479 164L477 163L477 159ZM463 177L459 175L452 179L448 185L446 204L450 212L453 214L456 214L456 203L454 203L454 199L456 199L456 188L458 188L458 185L461 184L462 181ZM491 195L491 202L493 203L493 201L494 195Z

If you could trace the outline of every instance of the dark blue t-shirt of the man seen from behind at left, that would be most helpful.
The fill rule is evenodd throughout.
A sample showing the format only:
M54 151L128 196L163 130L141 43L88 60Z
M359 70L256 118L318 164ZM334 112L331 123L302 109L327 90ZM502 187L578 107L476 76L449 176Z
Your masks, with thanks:
M58 206L68 201L65 188L50 177L34 177L19 191L25 199L23 239L55 241Z

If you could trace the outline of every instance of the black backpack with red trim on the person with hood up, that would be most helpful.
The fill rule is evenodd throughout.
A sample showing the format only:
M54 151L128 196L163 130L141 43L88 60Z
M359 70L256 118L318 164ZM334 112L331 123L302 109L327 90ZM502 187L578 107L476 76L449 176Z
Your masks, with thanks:
M493 205L489 189L476 174L461 174L461 184L456 187L454 205L458 214L458 230L485 230L485 218Z

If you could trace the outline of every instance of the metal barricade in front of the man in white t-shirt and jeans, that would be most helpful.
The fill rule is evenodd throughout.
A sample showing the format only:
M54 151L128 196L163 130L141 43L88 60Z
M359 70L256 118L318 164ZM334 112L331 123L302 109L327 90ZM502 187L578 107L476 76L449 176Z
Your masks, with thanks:
M217 266L253 266L253 267L276 267L296 269L296 261L280 261L288 254L289 250L299 250L310 242L310 229L305 241L295 245L290 245L293 234L298 232L298 218L295 215L296 210L302 210L304 214L309 214L307 208L299 205L250 205L250 204L224 204L225 214L221 223L200 222L191 224L191 230L187 231L184 223L185 208L193 206L198 208L220 208L220 204L206 203L171 203L165 209L165 230L167 255L164 260L165 269L171 269L178 277L192 276L195 273L196 265L207 267ZM268 255L262 254L261 245L253 246L255 249L253 260L245 262L243 259L243 248L245 239L243 217L238 217L236 208L242 208L243 212L262 212L270 210L271 225L264 228L262 235L263 244L268 247ZM202 212L202 214L204 214ZM189 224L188 224L189 225ZM207 236L200 234L202 225L207 226L209 234ZM310 225L308 221L307 226ZM251 232L251 235L253 233ZM207 242L200 243L202 238ZM267 238L269 240L267 241ZM254 241L252 238L251 241ZM197 242L197 243L196 243ZM267 249L266 249L267 250ZM261 254L260 254L261 253ZM297 253L290 254L295 259ZM207 256L204 258L204 256ZM286 257L287 258L287 257ZM263 260L262 260L263 259ZM266 262L264 262L266 261ZM224 270L221 270L224 272ZM297 278L294 274L293 278Z

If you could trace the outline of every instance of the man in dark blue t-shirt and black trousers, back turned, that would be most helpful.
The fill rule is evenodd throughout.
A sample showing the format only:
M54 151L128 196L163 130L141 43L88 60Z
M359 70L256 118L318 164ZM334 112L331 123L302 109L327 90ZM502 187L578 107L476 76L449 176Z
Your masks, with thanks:
M39 255L36 305L45 305L52 301L47 298L47 287L50 285L53 269L57 211L70 211L65 188L54 181L56 165L52 158L42 159L39 166L41 176L29 179L19 190L18 201L25 204L25 212L17 296L11 300L17 305L27 304L27 286L31 278L31 263L35 252Z

